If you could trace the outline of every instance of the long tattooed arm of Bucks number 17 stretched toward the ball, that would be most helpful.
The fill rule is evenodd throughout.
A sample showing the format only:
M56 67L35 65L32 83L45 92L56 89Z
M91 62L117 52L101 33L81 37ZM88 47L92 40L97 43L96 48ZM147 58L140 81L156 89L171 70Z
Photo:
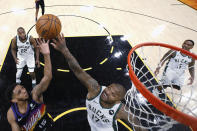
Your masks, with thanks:
M51 43L53 47L60 51L66 58L70 69L73 71L75 76L81 81L81 83L88 89L88 95L95 96L100 90L100 85L98 82L93 79L88 73L86 73L75 57L70 53L66 46L64 35L61 34L58 36L58 40L53 40L54 43Z

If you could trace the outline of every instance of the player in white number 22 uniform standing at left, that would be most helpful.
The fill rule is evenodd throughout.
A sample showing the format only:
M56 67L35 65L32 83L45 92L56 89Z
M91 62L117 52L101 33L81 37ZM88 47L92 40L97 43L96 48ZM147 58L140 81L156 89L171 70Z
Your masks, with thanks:
M34 58L34 49L36 52L36 61ZM17 67L16 83L21 83L20 78L23 67L27 65L32 78L32 87L34 87L36 85L36 77L34 72L35 64L40 67L39 49L36 46L36 41L34 38L27 35L23 27L19 27L17 29L17 36L12 39L11 52Z

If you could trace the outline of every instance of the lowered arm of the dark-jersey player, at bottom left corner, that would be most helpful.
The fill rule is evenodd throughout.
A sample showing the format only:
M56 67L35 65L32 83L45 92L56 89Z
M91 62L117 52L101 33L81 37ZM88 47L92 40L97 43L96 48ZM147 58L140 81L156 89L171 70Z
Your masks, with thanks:
M7 112L7 119L8 123L11 125L12 131L21 131L19 125L15 120L14 113L11 108Z

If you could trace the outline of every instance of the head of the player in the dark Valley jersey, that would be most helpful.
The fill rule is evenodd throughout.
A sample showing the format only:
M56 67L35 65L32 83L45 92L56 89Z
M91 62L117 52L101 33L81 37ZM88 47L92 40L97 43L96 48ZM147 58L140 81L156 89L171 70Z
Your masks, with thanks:
M26 101L29 98L27 90L22 85L16 83L7 88L6 95L10 102L15 103L18 101Z

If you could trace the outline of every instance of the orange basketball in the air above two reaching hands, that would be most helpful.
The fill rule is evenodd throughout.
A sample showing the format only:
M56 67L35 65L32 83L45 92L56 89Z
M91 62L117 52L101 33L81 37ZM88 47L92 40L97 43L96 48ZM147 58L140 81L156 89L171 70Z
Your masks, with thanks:
M36 22L36 31L39 37L47 40L56 38L61 32L61 28L59 18L52 14L45 14Z

